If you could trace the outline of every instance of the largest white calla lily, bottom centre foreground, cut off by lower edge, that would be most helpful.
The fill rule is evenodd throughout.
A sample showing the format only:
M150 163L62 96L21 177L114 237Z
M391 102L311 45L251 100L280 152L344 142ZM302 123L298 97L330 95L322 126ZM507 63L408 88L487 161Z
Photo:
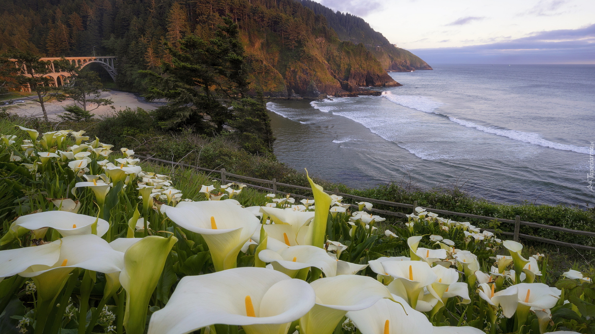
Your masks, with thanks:
M315 298L308 283L265 268L186 276L151 316L148 334L184 334L212 324L240 325L246 334L284 334Z

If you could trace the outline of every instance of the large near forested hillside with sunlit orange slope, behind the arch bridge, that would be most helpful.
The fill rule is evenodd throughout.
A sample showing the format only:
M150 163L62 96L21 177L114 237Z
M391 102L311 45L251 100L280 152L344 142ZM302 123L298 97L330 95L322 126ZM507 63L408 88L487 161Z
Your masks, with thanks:
M146 77L139 70L154 70L161 61L170 61L167 45L175 47L190 34L212 39L223 17L239 26L253 93L318 98L371 93L361 86L399 85L384 71L392 69L385 64L389 53L342 41L327 17L293 0L4 0L3 4L2 51L18 48L46 56L74 56L89 55L95 46L98 55L118 56L117 84L130 90L145 90Z

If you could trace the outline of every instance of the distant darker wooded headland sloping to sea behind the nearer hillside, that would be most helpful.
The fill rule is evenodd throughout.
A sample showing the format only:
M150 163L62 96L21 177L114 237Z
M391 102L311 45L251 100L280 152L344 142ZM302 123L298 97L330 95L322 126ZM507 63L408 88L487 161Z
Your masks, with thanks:
M363 43L387 71L431 70L425 61L413 53L396 48L383 34L372 29L363 18L349 13L335 12L312 0L297 0L315 14L324 15L328 26L336 31L340 40Z

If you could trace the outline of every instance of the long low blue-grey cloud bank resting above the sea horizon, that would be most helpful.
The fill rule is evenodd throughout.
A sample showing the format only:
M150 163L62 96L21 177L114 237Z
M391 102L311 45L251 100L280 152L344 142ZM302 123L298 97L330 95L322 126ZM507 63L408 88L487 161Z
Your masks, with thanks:
M410 50L434 64L595 64L595 24L458 48Z

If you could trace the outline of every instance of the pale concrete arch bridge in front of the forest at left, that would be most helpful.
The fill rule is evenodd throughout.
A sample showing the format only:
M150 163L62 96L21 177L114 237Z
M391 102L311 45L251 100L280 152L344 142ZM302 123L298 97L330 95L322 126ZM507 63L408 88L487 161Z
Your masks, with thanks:
M54 61L58 61L62 58L40 58L39 60L48 62L48 67L50 69L49 73L44 75L45 77L52 78L54 83L52 86L60 87L65 83L68 83L68 77L70 74L67 72L62 71L58 66L54 66ZM89 64L98 63L101 67L105 68L108 72L109 76L112 80L115 81L115 76L117 72L115 70L115 62L117 61L117 56L87 56L87 57L65 57L65 59L70 62L70 64L76 65L79 67L79 70ZM18 71L19 74L27 74L25 68L20 68Z

